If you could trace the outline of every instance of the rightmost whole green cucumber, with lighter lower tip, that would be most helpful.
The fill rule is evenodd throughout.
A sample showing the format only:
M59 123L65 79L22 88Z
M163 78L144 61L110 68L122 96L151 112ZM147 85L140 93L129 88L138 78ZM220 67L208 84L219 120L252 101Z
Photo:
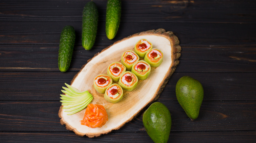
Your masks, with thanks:
M121 0L108 0L106 10L106 35L113 39L119 28L121 19Z

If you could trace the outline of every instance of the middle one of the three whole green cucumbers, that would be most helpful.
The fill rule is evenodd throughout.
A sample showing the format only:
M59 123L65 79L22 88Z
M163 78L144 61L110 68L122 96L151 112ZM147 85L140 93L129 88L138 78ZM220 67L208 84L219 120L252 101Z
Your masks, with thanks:
M83 9L82 16L82 45L84 49L92 49L98 26L98 8L93 1L88 2Z

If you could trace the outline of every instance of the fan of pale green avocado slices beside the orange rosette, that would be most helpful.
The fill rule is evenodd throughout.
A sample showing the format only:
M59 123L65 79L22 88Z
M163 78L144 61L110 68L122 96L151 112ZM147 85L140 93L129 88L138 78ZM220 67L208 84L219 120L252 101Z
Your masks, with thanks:
M62 87L65 90L61 90L64 94L60 94L60 102L63 105L62 109L67 109L64 112L69 112L67 115L73 115L84 108L93 100L93 95L89 91L79 91L75 87L72 87L65 83L68 87Z

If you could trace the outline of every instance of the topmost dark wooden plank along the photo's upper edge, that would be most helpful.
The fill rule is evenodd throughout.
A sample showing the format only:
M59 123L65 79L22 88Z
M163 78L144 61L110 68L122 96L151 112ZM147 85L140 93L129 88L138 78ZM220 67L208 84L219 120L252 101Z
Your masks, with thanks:
M2 21L80 21L88 1L2 1ZM94 0L99 21L105 21L106 1ZM256 22L255 1L122 0L122 22ZM22 5L22 9L20 6ZM228 10L227 10L228 9ZM43 13L43 14L42 14Z

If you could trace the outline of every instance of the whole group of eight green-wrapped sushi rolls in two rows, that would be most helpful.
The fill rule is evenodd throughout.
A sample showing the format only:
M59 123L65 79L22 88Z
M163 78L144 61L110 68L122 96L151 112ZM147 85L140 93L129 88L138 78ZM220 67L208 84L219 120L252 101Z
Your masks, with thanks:
M139 60L143 58L144 60ZM140 39L134 51L123 52L120 62L113 62L107 68L107 75L100 74L94 79L94 88L111 103L117 103L123 97L123 90L133 91L138 80L145 80L152 67L158 67L163 61L163 53L152 48L152 43ZM118 82L118 84L112 84Z

